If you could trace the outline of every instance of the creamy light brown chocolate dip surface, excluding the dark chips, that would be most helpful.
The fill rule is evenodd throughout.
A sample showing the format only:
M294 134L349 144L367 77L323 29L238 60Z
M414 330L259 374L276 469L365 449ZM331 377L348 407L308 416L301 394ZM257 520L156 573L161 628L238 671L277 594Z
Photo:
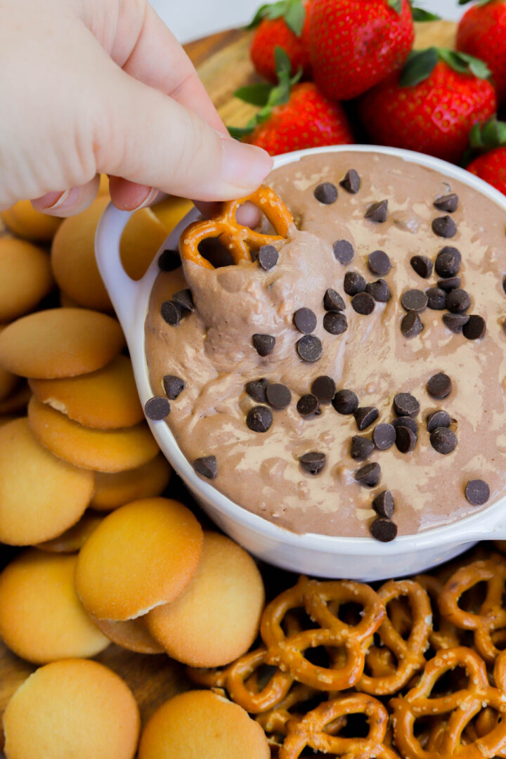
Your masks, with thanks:
M354 168L360 190L350 194L339 182ZM316 200L319 184L338 187L335 203ZM184 455L214 455L218 474L212 484L244 509L297 533L369 536L376 512L372 501L383 490L394 498L393 521L398 534L413 534L448 524L491 505L506 494L506 213L469 187L400 158L374 153L328 153L309 156L272 172L267 183L294 214L288 239L276 242L278 263L264 270L258 263L204 269L196 263L160 272L152 289L146 320L146 355L153 395L165 395L163 378L184 380L185 389L171 400L166 423ZM445 216L434 200L457 193L450 213L457 225L451 239L435 234L432 221ZM372 203L388 200L385 222L364 219ZM343 265L333 251L335 241L354 247ZM410 289L435 287L435 271L427 279L410 260L424 256L435 263L438 251L451 245L462 257L460 288L470 295L465 313L486 320L482 339L466 339L445 326L448 310L426 308L419 316L423 331L401 332L407 311L402 295ZM344 293L344 276L358 272L366 282L379 279L368 257L384 250L391 262L383 276L391 291L387 303L376 302L369 315L357 313ZM184 312L178 326L162 319L163 301L190 288L195 310ZM347 329L340 335L322 326L325 291L344 298ZM322 357L302 361L294 313L309 308L317 317L313 334L322 342ZM272 352L260 357L253 334L275 337ZM440 400L429 395L429 379L443 372L451 392ZM360 432L353 414L322 403L319 414L303 417L300 396L311 392L313 380L328 375L337 389L350 389L360 406L379 410L378 418ZM252 380L265 377L291 391L288 408L271 408L266 433L247 427L246 417L257 402L245 392ZM397 393L420 402L418 437L413 451L396 445L374 449L364 461L350 456L351 438L369 439L379 423L396 418ZM263 404L269 405L269 404ZM443 455L431 444L426 418L434 411L450 414L457 436L453 452ZM159 422L165 424L165 422ZM408 441L409 442L409 441ZM319 474L310 474L300 457L326 456ZM355 479L360 467L377 463L379 483L364 487ZM485 505L466 498L470 480L484 480L490 489Z

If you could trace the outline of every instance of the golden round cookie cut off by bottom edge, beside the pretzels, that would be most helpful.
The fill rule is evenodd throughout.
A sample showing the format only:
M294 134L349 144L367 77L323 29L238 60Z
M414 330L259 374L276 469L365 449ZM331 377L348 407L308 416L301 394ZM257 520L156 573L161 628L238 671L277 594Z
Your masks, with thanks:
M242 707L211 691L187 691L153 714L140 737L138 759L270 756L265 733Z

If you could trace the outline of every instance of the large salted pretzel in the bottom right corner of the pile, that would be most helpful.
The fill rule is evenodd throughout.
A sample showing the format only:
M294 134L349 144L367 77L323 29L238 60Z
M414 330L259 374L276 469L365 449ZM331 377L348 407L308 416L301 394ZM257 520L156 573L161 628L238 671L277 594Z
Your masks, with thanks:
M467 672L467 688L430 698L438 679L457 666ZM390 706L394 711L394 742L404 759L492 759L506 745L506 698L501 690L489 685L485 662L470 648L438 651L426 664L419 684L404 698L393 698ZM487 707L500 713L501 720L486 735L467 742L462 734ZM438 723L437 736L423 748L415 735L415 723L426 716L443 719Z

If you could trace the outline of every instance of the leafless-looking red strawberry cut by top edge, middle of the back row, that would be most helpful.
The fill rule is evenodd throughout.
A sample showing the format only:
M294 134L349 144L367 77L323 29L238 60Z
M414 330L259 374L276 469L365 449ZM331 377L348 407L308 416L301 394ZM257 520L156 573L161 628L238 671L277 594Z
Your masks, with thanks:
M413 46L407 0L313 0L310 56L316 84L348 100L402 68Z

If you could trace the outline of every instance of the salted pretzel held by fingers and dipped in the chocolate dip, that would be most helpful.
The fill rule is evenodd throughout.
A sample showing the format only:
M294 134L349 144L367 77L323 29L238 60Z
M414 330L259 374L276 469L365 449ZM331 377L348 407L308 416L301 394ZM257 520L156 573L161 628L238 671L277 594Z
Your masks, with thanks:
M262 235L237 222L237 210L247 201L265 214L275 229L275 235ZM222 209L212 219L190 224L179 241L181 258L198 263L205 269L214 269L212 263L200 255L199 245L208 238L218 238L231 254L234 263L251 261L251 250L259 250L262 245L286 238L293 222L294 218L281 198L271 187L262 185L248 197L222 203Z

